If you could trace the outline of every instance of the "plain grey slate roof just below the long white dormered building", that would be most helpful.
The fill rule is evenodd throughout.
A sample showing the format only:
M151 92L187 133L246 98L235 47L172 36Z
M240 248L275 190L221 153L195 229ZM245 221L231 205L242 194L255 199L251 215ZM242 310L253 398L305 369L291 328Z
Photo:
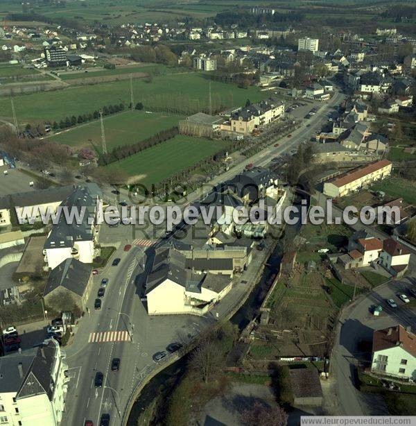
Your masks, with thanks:
M46 281L44 296L61 286L78 296L83 296L91 273L91 264L85 264L73 259L73 257L69 257L56 266L55 269L52 269Z

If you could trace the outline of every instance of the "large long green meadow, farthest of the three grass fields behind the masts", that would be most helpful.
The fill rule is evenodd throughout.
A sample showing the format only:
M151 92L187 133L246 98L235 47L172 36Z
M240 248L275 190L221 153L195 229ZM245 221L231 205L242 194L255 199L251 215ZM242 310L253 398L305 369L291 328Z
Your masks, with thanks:
M135 102L170 112L193 114L207 109L209 104L209 80L204 74L189 73L184 78L181 74L155 76L152 83L133 80ZM266 98L268 94L260 92L257 87L241 89L236 85L211 82L211 99L213 108L229 108L244 105L247 99L252 102ZM130 79L112 83L69 87L54 92L15 96L17 119L43 121L60 121L71 115L89 114L105 105L130 103ZM147 102L147 103L146 103ZM10 101L0 98L0 116L12 117Z

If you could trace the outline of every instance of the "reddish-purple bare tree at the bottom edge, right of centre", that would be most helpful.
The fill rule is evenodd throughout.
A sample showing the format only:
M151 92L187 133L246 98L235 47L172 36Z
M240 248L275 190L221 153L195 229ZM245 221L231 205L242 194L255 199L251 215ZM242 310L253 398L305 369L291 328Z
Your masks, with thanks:
M288 424L288 415L279 405L263 404L260 401L254 402L250 409L241 413L241 423L252 426L286 426Z

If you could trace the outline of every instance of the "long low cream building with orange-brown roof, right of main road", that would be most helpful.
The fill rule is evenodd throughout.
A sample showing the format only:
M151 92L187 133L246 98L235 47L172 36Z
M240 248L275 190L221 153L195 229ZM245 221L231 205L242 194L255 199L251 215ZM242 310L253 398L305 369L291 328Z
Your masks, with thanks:
M380 160L363 167L357 167L329 180L329 182L324 182L324 194L331 198L346 196L354 191L359 191L372 182L390 176L391 171L392 162L389 160Z

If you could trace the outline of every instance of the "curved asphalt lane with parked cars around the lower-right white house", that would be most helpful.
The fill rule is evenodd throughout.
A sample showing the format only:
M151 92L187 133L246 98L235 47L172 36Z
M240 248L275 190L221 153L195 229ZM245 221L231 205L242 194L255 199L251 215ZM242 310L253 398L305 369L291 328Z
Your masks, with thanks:
M356 383L356 366L359 362L368 361L370 353L360 352L360 341L372 341L374 330L401 324L416 330L416 308L407 307L398 293L408 294L413 284L408 279L388 282L377 287L366 296L358 298L347 307L337 326L336 341L331 359L331 373L336 379L335 392L341 412L349 416L388 414L383 398L371 393L361 393L354 386ZM391 308L385 300L392 298L397 308ZM370 312L372 305L382 305L380 316Z

